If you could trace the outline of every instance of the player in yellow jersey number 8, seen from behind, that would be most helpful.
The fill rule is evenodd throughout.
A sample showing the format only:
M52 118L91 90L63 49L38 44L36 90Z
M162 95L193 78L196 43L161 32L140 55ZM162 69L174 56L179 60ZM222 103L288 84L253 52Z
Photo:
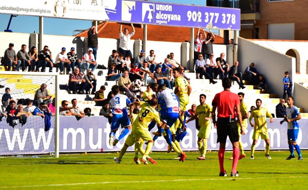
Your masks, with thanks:
M141 158L141 161L144 164L148 164L146 158L150 153L154 141L150 132L148 131L148 125L151 123L152 120L155 120L157 126L161 126L162 122L160 121L159 114L155 110L158 104L157 98L152 98L150 103L146 102L134 102L134 104L139 104L141 107L140 113L137 116L136 120L133 123L132 132L135 135L135 139L140 141L141 138L144 141L147 141L147 147L145 148L145 152Z

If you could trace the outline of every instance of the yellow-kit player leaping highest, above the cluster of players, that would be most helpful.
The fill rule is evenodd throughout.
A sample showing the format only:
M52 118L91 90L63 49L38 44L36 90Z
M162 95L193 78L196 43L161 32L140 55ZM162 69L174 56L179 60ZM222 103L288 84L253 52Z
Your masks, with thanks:
M183 121L184 112L186 111L187 105L189 103L189 95L192 91L192 87L189 85L189 83L184 77L181 77L180 67L177 67L173 70L173 76L175 78L174 94L179 98L179 103L180 103L179 115ZM174 129L176 130L176 133L180 133L181 126L179 119L177 119L176 122L174 123Z

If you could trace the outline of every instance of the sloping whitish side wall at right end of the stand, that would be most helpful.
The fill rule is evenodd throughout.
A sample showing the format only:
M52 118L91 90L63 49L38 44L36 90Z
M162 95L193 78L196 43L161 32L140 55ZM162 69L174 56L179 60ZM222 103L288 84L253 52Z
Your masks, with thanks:
M238 38L238 72L244 73L251 62L260 74L265 76L271 93L277 93L282 98L282 79L284 72L289 71L291 81L295 78L295 58L260 46L254 41Z

